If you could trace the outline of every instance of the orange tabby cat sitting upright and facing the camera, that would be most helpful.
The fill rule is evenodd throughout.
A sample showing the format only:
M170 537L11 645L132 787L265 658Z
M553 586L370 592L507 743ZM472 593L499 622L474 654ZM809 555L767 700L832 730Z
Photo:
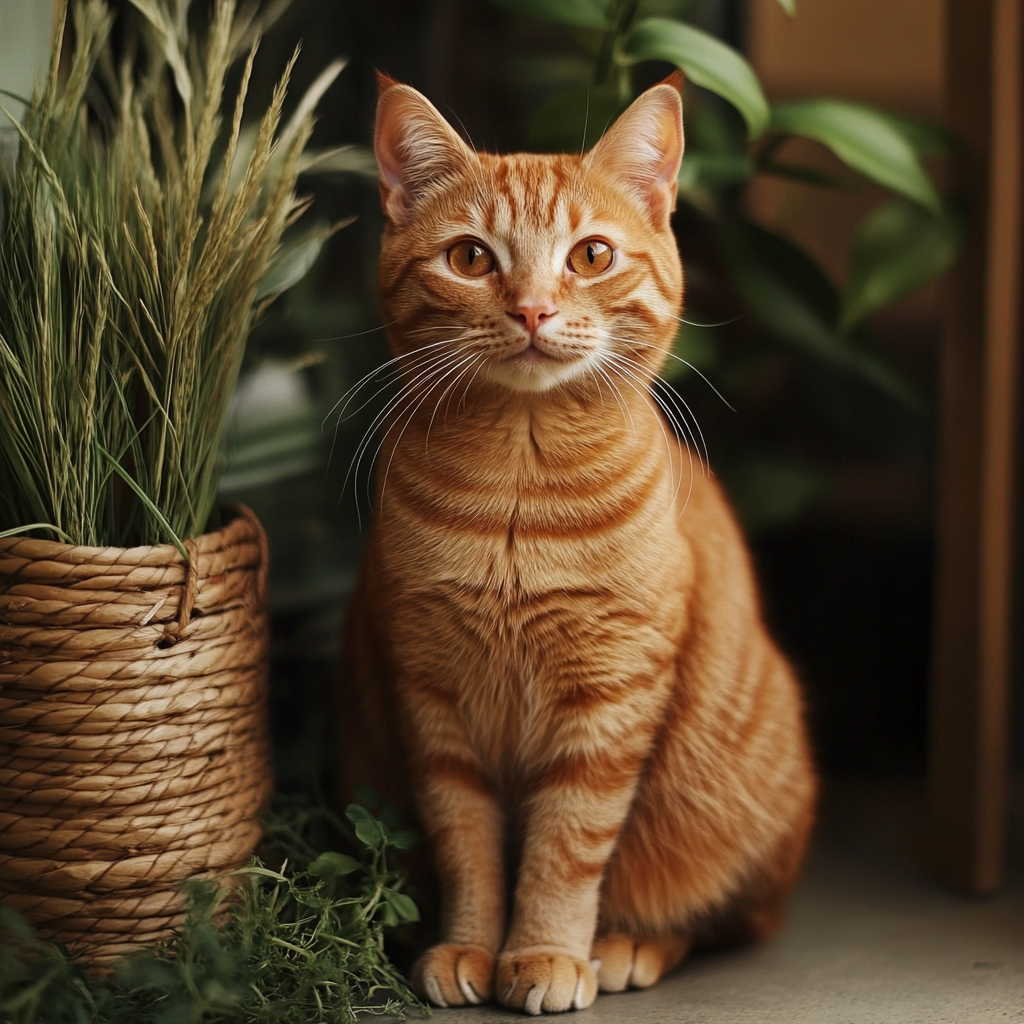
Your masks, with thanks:
M718 484L648 389L682 307L679 86L586 155L500 157L381 79L382 308L407 390L341 759L415 798L441 934L414 984L437 1006L538 1014L650 985L695 941L770 933L804 856L797 685Z

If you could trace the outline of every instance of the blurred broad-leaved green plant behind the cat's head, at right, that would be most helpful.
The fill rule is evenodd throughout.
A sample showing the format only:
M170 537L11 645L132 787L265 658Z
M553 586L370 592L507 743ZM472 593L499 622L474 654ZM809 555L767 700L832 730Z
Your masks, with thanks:
M876 392L870 400L890 407L890 417L922 417L924 396L886 357L865 318L940 274L955 256L958 213L922 163L948 148L941 130L841 99L769 103L744 57L701 27L713 6L698 0L493 2L558 27L550 52L516 60L523 99L534 110L532 148L589 147L668 66L685 76L686 154L675 226L688 323L669 380L712 374L730 403L749 406L766 362L783 348L797 357L812 402L824 383L829 391ZM778 4L796 15L793 0ZM787 143L795 137L827 147L843 171L825 173L792 156ZM833 282L811 255L758 217L749 193L764 176L828 189L873 184L890 194L860 223L845 282ZM737 327L727 333L716 327L731 324ZM815 404L815 418L827 421L828 410ZM770 435L720 431L717 422L708 425L716 412L702 409L691 419L712 437L714 468L749 529L792 520L827 489L829 459L802 454L788 438L779 443ZM700 447L695 422L689 432Z

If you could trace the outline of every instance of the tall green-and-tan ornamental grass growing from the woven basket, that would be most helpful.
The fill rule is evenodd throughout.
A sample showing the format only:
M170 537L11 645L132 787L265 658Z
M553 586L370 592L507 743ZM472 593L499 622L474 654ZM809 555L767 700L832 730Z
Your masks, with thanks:
M71 17L70 67L61 26L0 169L0 537L184 555L214 510L254 319L294 283L290 257L307 262L310 234L330 232L285 242L341 63L285 123L293 57L246 132L255 5L215 0L198 35L189 0L131 0L117 18L83 0Z

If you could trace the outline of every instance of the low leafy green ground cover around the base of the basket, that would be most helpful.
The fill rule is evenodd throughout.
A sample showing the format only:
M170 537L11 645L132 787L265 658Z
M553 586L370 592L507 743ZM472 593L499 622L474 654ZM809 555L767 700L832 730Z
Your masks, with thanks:
M343 821L295 800L279 806L263 859L193 883L181 933L104 977L0 907L0 1021L347 1024L426 1012L384 951L389 930L419 916L395 866L415 837L391 808L379 814L352 805Z

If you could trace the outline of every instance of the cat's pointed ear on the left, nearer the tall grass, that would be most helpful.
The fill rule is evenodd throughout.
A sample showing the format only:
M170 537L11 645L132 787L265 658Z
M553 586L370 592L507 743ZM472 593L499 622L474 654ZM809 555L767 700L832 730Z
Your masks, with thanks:
M434 185L468 170L476 154L412 86L377 75L374 152L381 175L381 205L403 223Z

